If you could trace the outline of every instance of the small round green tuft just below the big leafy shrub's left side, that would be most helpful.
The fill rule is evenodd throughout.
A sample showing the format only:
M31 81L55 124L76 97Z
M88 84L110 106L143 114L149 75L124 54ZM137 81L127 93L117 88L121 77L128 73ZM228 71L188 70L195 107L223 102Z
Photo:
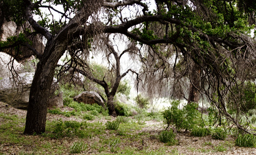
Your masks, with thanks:
M169 145L174 145L177 143L175 140L176 135L172 130L170 131L162 131L159 134L159 141L163 143L168 143Z

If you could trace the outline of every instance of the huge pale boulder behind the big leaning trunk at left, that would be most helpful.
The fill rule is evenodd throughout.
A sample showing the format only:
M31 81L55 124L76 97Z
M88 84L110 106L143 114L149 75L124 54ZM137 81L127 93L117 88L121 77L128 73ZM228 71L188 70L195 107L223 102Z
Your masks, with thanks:
M30 87L34 73L25 72L17 74L17 78L5 78L0 80L0 101L6 102L15 108L26 109L29 103ZM55 85L52 87L56 87ZM56 97L59 97L58 99ZM62 107L62 95L49 99L48 107Z

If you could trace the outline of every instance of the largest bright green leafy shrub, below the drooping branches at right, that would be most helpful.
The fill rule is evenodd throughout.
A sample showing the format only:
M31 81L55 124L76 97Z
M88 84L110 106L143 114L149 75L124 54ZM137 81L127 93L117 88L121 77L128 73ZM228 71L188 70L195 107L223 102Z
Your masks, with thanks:
M167 126L176 126L177 131L181 129L191 130L196 125L201 125L200 113L197 111L198 104L190 103L179 109L180 101L172 101L171 107L163 112Z

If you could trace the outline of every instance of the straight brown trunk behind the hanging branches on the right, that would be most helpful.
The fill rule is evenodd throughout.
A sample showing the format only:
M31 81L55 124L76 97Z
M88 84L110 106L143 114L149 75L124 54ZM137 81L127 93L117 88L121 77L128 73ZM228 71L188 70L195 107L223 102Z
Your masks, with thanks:
M200 88L200 68L198 65L194 64L192 66L191 79L190 79L190 92L188 95L187 103L199 101L199 91Z

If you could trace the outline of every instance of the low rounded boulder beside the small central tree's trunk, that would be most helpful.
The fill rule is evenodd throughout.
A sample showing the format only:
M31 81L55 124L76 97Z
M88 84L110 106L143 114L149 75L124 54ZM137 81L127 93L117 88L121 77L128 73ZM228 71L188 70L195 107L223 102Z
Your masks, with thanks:
M85 104L97 103L101 106L105 106L104 101L100 95L95 91L83 91L81 94L74 97L77 102L83 102Z

